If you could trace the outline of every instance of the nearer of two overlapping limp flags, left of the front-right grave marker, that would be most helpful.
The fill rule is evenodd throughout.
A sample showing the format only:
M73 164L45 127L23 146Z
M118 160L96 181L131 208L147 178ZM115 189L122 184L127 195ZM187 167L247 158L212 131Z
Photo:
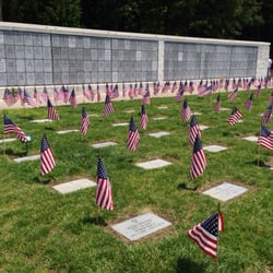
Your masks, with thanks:
M190 166L190 177L192 179L202 175L206 166L205 154L202 149L201 140L197 136L193 144L193 152L191 157L191 166Z

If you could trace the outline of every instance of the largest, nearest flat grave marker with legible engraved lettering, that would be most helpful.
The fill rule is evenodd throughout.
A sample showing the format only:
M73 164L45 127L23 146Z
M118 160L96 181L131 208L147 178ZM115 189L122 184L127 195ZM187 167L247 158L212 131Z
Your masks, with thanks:
M111 225L110 227L130 241L135 241L170 225L170 222L154 213L145 213L119 224Z

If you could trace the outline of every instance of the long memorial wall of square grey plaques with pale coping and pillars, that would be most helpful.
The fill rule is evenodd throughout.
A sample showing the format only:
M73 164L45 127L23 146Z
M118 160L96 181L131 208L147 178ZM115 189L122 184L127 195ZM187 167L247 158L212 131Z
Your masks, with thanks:
M265 76L270 44L0 22L0 87Z

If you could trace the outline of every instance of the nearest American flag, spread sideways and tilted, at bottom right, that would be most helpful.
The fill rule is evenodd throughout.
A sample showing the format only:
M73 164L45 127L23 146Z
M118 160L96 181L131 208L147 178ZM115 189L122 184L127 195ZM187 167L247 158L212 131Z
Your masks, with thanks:
M224 230L222 213L213 213L209 218L193 226L187 235L206 254L217 258L218 232Z

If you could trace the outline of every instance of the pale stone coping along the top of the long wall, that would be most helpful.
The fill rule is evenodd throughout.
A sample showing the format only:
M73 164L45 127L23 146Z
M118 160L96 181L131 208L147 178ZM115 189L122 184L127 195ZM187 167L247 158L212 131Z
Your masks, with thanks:
M198 38L186 36L171 36L159 34L143 34L143 33L127 33L114 31L100 31L64 26L37 25L37 24L22 24L0 22L0 31L19 31L47 34L64 34L64 35L82 35L96 37L111 37L111 38L130 38L130 39L147 39L147 40L166 40L166 41L186 41L197 44L223 44L223 45L238 45L238 46L270 46L271 43L253 41L253 40L236 40L236 39L215 39L215 38Z

